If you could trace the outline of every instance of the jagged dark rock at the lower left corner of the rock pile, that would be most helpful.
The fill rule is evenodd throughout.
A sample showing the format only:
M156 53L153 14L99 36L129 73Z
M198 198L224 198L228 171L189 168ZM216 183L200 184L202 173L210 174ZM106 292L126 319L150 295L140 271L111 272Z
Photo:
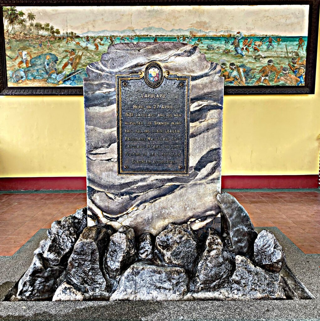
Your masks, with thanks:
M33 257L29 269L18 283L18 300L36 301L52 298L64 279L64 266L48 266L41 254Z

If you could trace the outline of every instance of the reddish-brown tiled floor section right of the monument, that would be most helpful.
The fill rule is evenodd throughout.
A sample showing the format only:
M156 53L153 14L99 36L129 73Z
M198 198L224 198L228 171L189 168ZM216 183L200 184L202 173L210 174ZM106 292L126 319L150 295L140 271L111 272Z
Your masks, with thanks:
M306 254L320 254L320 193L230 193L254 226L276 226Z

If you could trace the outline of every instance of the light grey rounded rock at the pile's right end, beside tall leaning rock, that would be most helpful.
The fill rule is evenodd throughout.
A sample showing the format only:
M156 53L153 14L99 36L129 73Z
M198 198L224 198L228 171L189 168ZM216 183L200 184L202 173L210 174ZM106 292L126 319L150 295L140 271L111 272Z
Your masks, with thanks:
M286 264L286 256L272 232L262 230L254 241L255 264L269 272L279 273Z

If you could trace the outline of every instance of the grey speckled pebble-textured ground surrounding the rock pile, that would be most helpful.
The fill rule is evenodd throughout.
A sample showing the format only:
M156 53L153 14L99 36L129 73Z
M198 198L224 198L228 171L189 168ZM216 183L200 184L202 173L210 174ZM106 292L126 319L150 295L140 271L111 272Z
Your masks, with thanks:
M256 228L257 232L264 228ZM280 230L267 227L283 247L287 264L316 297L313 300L192 302L0 302L0 320L312 320L320 321L320 255L304 254ZM0 297L29 267L46 230L39 230L13 256L0 256Z

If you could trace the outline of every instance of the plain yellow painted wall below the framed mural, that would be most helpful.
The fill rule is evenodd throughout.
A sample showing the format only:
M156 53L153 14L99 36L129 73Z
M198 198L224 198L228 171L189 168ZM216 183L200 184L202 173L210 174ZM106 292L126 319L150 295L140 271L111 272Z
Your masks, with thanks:
M320 34L319 34L320 39ZM317 174L315 95L226 96L222 175ZM82 97L0 96L0 177L85 176Z

